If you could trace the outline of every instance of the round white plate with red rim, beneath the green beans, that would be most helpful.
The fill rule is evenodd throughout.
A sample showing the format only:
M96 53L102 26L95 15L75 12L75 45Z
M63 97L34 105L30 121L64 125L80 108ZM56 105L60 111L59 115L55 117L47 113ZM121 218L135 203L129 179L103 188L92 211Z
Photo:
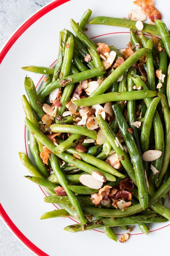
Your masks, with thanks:
M156 0L154 4L170 29L169 1ZM135 227L129 241L122 244L95 230L75 234L66 232L63 228L74 223L69 218L40 220L44 212L54 210L55 206L44 203L41 188L23 177L29 173L18 155L19 151L26 152L27 143L21 103L26 73L21 67L54 63L58 54L59 31L63 28L71 30L70 19L78 22L88 8L92 10L91 18L97 15L128 18L129 11L137 6L133 1L128 1L127 5L126 0L86 0L81 4L78 0L53 1L25 21L1 49L1 217L20 241L41 256L61 253L71 256L105 253L142 256L147 253L146 248L151 255L168 254L170 222L153 225L148 236ZM128 31L120 27L88 25L87 34L95 38L95 42L103 40L121 48L129 41ZM29 76L36 85L42 77L34 73L29 73Z

